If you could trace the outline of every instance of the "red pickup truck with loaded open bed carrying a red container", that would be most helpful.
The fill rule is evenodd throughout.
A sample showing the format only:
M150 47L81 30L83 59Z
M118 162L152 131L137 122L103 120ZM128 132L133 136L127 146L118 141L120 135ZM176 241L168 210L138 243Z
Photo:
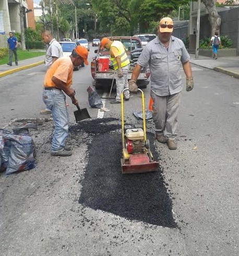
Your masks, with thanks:
M125 46L126 54L130 60L128 80L131 79L132 72L137 61L136 58L140 55L143 49L140 39L137 37L110 37L109 39L112 41L121 41ZM100 48L98 48L98 50L94 50L94 53L97 55L93 57L93 60L91 61L91 76L94 79L92 82L93 86L95 86L95 88L109 86L112 84L112 79L114 79L115 83L115 71L113 69L112 63L109 60L109 50L100 50ZM106 61L107 66L106 63L104 63L104 65L102 64L102 62ZM139 88L147 88L147 85L149 84L149 76L149 67L142 67L136 82Z

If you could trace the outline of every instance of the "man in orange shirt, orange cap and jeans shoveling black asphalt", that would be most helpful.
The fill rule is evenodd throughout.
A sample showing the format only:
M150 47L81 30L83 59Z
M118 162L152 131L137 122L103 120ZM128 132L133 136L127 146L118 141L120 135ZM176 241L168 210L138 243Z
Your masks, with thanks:
M71 98L73 104L78 104L75 98L75 90L70 86L73 77L73 65L79 66L83 62L88 65L88 51L78 45L70 56L61 57L47 69L44 78L43 102L52 111L55 131L52 138L52 156L71 156L69 146L65 146L68 135L69 115L66 108L66 95Z

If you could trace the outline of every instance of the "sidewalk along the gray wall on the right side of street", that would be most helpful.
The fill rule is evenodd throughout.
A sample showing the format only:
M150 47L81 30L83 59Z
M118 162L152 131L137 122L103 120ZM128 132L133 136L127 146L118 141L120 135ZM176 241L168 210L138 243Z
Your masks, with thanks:
M190 62L195 65L214 69L239 79L239 56L218 57L214 60L205 56L198 56L198 59L195 59L195 54L189 55Z

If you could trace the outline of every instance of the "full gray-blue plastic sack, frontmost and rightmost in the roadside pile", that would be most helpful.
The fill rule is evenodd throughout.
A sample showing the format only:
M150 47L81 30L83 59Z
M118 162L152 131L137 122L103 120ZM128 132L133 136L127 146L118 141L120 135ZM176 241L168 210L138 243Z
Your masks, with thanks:
M4 138L10 142L6 174L33 169L35 164L32 137L6 134Z

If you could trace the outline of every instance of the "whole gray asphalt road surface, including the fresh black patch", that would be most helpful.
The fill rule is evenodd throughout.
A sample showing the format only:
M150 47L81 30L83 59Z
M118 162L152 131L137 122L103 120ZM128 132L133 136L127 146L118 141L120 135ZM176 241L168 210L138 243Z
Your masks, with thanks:
M123 176L120 104L103 101L109 112L90 108L90 66L74 72L73 84L91 119L76 124L67 99L74 154L50 156L53 123L39 120L44 72L38 66L0 79L1 127L39 124L30 130L37 167L0 174L1 255L239 254L238 79L193 66L195 88L183 89L178 149L158 143L149 120L159 170ZM144 92L147 106L149 88ZM126 123L141 124L132 113L140 101L137 94L125 102Z

